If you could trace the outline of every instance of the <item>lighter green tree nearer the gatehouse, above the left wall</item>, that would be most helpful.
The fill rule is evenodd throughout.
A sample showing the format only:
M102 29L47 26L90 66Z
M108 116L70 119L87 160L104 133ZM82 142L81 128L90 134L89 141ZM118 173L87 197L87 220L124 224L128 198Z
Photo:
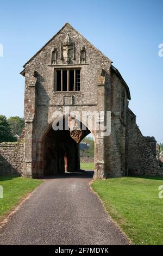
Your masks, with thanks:
M22 130L24 128L24 119L21 117L10 117L8 119L9 124L11 125L12 135L21 136Z

